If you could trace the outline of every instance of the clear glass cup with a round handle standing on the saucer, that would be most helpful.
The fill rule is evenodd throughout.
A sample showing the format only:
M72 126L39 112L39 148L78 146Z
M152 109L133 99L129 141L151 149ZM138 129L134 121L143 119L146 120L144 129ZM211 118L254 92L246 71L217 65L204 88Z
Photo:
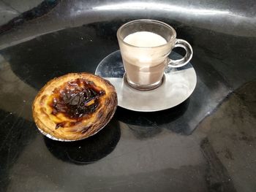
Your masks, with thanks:
M166 40L164 45L156 47L138 47L124 42L129 34L147 31L158 34ZM176 39L173 27L158 20L132 20L118 28L118 44L124 63L125 78L132 88L148 91L159 87L165 67L186 65L193 55L191 45L183 39ZM178 60L168 58L174 47L183 47L186 55Z

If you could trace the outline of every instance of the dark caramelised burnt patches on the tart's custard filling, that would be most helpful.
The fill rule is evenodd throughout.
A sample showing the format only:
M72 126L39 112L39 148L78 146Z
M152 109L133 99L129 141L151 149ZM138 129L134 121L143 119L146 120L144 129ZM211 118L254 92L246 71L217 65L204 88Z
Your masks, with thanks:
M53 91L53 100L50 103L50 107L53 108L52 115L62 113L78 123L95 112L99 105L99 97L104 94L105 91L99 90L91 81L76 79L66 82ZM73 125L74 122L61 122L56 128Z

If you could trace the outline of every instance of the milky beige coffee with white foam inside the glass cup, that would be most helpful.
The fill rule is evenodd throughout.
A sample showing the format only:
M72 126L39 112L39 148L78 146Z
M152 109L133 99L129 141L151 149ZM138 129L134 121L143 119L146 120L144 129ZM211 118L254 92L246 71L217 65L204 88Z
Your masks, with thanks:
M165 58L159 55L165 55L167 41L159 34L148 31L138 31L129 34L124 38L124 42L135 46L134 49L124 47L122 58L124 67L129 76L128 79L139 85L149 85L152 82L162 80L165 69ZM157 47L157 49L151 49Z

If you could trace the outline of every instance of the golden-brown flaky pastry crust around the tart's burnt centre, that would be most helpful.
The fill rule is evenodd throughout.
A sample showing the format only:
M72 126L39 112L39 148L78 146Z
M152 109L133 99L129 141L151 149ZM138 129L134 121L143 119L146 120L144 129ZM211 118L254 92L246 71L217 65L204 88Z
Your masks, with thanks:
M64 112L56 112L53 101L56 101L55 97L61 89L75 80L89 82L98 91L98 95L97 104L94 104L89 114L74 118ZM94 102L93 99L88 103L91 102ZM116 91L108 80L89 73L69 73L50 80L37 94L32 110L34 121L40 130L56 139L72 141L96 134L113 117L116 107Z

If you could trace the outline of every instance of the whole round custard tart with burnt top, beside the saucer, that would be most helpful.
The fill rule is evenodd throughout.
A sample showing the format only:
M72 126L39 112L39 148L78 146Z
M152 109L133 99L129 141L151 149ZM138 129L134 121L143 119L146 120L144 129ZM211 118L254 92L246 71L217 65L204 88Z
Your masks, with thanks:
M113 117L113 85L89 73L70 73L50 80L37 94L33 117L51 139L74 141L96 134Z

